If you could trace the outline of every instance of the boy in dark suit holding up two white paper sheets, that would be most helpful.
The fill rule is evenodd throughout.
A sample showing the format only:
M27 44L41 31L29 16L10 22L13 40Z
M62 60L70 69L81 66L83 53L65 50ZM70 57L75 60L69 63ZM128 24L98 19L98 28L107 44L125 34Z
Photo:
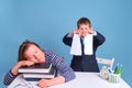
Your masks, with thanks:
M79 41L77 41L77 38L79 38ZM80 52L78 51L79 47L74 47L76 53L73 53L70 48L70 54L73 54L70 67L75 72L99 72L99 67L96 61L96 51L99 45L105 43L105 41L106 38L102 34L92 30L89 19L80 18L77 21L77 29L70 33L67 33L63 37L63 43L72 47L74 45L79 46L80 43ZM89 52L86 53L86 51Z

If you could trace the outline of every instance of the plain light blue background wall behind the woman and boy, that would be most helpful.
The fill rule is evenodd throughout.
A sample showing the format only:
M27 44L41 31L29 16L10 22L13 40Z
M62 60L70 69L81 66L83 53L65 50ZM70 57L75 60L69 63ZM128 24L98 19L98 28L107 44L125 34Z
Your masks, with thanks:
M24 40L52 50L70 63L63 36L81 16L91 20L107 41L97 56L116 58L123 65L122 78L132 86L132 0L0 0L0 87L4 74L16 63Z

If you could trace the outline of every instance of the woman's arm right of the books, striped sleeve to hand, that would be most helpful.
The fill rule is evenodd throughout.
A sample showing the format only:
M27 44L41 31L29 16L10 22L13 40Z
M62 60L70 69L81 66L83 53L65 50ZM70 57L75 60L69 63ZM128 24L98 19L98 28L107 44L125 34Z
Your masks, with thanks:
M58 56L56 53L53 53L51 51L45 52L45 55L48 55L48 58L46 58L46 61L52 63L52 65L57 68L59 76L53 79L41 79L37 82L37 86L42 88L46 88L53 85L67 82L75 78L74 70L64 62L64 59L61 56Z

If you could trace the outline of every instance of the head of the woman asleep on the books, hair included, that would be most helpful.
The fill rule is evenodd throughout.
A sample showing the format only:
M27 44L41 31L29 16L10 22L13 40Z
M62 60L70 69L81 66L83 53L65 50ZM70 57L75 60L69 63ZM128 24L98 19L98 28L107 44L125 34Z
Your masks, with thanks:
M24 41L19 48L18 62L20 61L45 62L44 52L36 43Z

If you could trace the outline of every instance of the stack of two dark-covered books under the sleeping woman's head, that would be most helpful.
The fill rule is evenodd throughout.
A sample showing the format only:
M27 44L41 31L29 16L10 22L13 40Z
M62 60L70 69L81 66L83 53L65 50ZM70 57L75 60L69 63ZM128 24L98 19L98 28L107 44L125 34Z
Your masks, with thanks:
M32 66L23 66L19 68L19 73L23 74L24 78L54 78L56 68L50 63L41 63Z

